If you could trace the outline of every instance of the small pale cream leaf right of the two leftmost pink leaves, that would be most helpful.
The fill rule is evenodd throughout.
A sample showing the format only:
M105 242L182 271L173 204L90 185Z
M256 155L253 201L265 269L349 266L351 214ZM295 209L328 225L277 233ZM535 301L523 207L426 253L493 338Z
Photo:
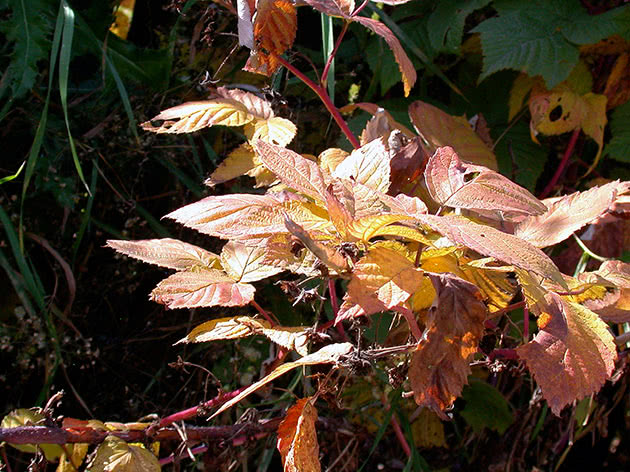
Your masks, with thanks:
M228 242L221 251L221 265L235 282L255 282L282 272L264 262L265 249Z

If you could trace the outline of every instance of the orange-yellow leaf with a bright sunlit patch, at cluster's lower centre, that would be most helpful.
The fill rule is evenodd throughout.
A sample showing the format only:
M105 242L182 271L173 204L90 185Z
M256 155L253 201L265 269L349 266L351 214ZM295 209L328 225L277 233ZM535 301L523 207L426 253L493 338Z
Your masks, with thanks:
M335 323L351 317L354 305L370 315L404 304L422 284L423 272L399 251L372 246L355 265L346 300Z

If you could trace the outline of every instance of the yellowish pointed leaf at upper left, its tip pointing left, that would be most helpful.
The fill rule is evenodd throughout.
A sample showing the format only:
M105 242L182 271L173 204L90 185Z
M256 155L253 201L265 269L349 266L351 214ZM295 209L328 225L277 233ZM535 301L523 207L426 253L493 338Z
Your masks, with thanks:
M151 119L164 120L160 126L153 126L151 121L141 126L153 133L192 133L214 125L243 126L253 119L254 116L242 103L229 98L215 98L168 108Z

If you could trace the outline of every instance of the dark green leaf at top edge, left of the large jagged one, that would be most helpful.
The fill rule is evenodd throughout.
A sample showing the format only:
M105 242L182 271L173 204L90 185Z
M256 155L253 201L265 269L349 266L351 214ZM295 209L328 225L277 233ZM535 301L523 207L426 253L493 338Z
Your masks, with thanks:
M439 2L427 23L433 49L449 54L459 54L466 18L488 3L490 0Z

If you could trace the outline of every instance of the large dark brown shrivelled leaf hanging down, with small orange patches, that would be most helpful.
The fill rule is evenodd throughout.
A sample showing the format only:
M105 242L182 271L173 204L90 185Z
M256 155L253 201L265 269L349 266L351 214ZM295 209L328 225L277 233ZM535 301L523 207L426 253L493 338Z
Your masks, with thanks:
M427 274L436 298L426 317L425 331L412 354L409 381L420 406L443 410L461 394L470 361L483 335L487 308L479 289L452 274Z

